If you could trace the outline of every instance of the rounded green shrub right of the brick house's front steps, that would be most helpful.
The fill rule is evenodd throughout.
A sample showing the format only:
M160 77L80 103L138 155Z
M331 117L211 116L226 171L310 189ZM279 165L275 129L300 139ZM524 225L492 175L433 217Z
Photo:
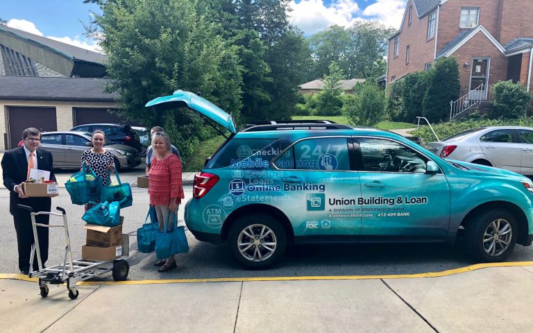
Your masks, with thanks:
M494 109L501 118L518 118L527 114L530 94L521 83L500 81L492 87Z

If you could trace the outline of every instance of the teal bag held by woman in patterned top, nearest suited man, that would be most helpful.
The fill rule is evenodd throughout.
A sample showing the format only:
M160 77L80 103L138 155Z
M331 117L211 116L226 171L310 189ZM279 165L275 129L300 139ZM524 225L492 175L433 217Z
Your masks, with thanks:
M87 173L87 169L90 173ZM69 180L65 182L65 188L74 205L85 205L85 203L100 198L102 178L97 177L91 167L83 167L80 172L70 176Z

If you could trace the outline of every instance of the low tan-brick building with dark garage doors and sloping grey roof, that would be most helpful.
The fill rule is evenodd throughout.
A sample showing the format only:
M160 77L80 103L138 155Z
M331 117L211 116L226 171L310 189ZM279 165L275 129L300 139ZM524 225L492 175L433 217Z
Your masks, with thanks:
M0 150L15 148L22 130L69 130L121 121L106 94L105 56L0 24Z

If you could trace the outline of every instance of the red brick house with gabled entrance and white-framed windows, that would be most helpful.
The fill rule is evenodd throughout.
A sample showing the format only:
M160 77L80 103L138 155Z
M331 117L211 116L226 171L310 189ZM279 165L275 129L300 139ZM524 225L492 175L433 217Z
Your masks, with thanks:
M389 39L387 84L453 56L461 95L478 88L481 99L489 98L487 85L500 80L519 81L531 92L531 12L532 0L408 0L400 30Z

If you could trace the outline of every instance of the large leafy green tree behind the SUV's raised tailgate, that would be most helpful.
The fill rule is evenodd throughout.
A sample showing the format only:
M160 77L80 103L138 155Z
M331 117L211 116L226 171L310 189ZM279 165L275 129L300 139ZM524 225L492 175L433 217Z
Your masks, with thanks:
M221 37L205 6L188 0L100 1L88 33L101 33L110 85L119 115L146 126L163 125L187 157L198 142L201 120L192 112L144 108L176 89L201 95L227 112L241 108L242 67L237 46Z

